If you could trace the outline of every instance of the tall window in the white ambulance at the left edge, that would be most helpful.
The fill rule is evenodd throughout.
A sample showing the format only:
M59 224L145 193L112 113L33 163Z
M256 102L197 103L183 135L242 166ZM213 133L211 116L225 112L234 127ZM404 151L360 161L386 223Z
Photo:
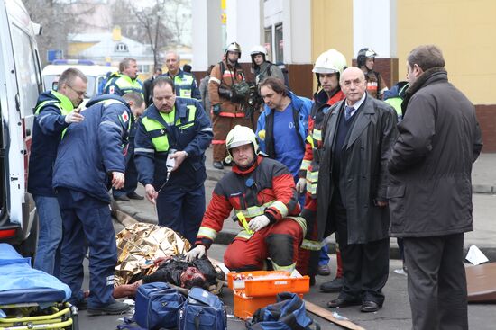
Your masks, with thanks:
M32 108L38 99L37 63L34 59L32 42L24 31L14 25L13 44L15 73L19 84L21 96L21 115L23 117L32 115Z

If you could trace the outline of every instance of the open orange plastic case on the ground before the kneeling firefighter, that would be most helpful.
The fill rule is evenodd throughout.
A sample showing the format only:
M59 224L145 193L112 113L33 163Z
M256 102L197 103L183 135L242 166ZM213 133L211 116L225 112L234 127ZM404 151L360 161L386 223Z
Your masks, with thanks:
M263 276L271 278L261 279ZM235 280L238 277L241 279ZM234 316L245 319L252 317L258 308L275 303L280 292L298 293L303 298L303 293L310 290L310 278L290 278L289 272L277 271L230 272L227 285L233 290Z

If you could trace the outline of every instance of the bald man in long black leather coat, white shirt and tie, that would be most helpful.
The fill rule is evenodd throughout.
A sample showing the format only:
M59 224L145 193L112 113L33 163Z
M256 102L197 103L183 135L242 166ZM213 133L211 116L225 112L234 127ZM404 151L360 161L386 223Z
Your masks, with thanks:
M322 125L317 187L318 227L326 228L324 236L337 232L343 256L343 289L327 306L374 312L384 302L389 273L386 162L397 136L396 111L365 93L360 68L345 69L339 82L346 98Z

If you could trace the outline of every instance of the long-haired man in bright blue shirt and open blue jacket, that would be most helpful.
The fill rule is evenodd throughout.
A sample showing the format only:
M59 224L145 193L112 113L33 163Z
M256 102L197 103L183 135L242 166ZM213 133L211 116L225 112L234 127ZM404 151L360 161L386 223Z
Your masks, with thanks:
M259 88L265 103L256 132L260 150L286 165L293 174L295 183L298 183L312 102L306 97L293 94L276 77L266 78ZM304 201L305 194L302 193L299 195L299 204L303 206Z

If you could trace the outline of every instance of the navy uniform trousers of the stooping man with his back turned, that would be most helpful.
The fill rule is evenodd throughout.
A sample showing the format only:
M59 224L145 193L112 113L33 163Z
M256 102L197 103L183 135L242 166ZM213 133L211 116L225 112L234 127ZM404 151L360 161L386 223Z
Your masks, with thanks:
M99 308L114 301L114 272L117 262L115 231L109 205L70 189L59 188L62 215L60 281L72 290L70 302L80 299L83 260L89 247L89 297L87 305Z

